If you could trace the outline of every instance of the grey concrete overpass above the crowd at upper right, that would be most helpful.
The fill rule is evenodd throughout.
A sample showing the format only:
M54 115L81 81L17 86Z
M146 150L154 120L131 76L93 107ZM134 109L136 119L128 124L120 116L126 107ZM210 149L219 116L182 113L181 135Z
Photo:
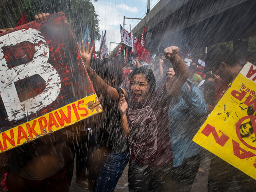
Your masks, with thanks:
M170 45L206 47L256 36L255 10L256 0L160 0L132 34L141 36L145 26L146 48L151 53Z

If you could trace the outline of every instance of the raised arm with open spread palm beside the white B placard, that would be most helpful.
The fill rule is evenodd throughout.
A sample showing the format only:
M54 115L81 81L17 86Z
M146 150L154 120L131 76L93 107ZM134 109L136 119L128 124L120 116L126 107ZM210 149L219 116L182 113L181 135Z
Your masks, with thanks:
M85 50L84 47L84 41L81 42L82 51L80 50L79 43L77 42L77 47L80 52L80 55L82 57L82 60L84 61L84 65L86 68L86 71L88 75L90 76L90 80L92 81L93 87L96 90L96 92L100 92L102 95L107 96L108 98L112 100L119 100L119 93L118 91L106 84L104 80L102 80L94 70L90 67L91 63L91 56L92 56L92 50L93 47L90 49L90 42L87 44L87 49Z

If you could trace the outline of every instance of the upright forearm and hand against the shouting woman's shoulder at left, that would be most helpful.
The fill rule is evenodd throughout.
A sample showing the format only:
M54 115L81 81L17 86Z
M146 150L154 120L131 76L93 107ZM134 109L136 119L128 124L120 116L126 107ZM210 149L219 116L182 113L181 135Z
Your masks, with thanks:
M128 104L124 98L124 95L121 94L122 98L119 100L118 108L120 110L120 115L121 115L121 125L124 131L124 134L128 137L130 135L130 128L129 128L129 123L128 119L126 116L126 110L128 108Z

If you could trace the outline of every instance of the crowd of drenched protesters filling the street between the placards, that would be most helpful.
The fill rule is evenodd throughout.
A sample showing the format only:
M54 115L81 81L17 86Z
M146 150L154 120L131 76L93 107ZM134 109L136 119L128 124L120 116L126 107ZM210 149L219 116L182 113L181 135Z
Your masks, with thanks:
M205 66L194 58L188 66L175 45L150 58L139 39L128 56L104 59L90 42L76 46L103 112L0 154L3 188L68 192L75 174L90 192L113 192L128 166L129 192L189 192L204 172L205 150L192 139L242 68L232 51L216 45ZM208 191L227 191L234 175L241 191L256 190L253 178L212 155Z

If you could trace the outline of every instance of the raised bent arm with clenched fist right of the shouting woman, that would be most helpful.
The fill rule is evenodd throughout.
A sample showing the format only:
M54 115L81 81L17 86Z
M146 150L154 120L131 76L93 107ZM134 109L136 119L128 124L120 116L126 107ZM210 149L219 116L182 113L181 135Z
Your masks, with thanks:
M170 62L172 62L172 67L175 72L173 74L173 72L170 71L171 68L169 68L166 73L168 77L166 88L170 96L177 93L188 79L188 69L180 56L178 56L178 51L179 48L176 46L170 46L164 50L164 55L167 59L170 60Z

